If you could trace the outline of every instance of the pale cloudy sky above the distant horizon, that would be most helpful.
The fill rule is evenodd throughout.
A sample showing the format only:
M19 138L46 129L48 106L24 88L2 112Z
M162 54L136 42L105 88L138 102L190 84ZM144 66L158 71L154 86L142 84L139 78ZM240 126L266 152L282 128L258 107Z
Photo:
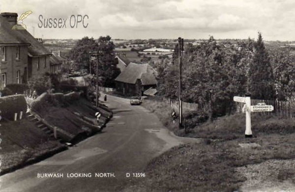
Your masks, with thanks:
M295 0L1 0L0 12L26 11L23 24L45 39L246 39L261 32L266 41L295 40ZM88 15L87 28L77 15ZM66 19L66 28L45 28L50 18Z

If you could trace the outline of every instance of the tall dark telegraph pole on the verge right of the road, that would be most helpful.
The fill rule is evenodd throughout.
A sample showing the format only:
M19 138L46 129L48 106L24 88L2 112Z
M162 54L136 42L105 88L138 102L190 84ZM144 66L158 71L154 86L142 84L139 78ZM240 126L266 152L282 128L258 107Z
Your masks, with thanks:
M183 38L178 37L178 64L179 64L179 129L183 128L182 118L182 54L183 54Z

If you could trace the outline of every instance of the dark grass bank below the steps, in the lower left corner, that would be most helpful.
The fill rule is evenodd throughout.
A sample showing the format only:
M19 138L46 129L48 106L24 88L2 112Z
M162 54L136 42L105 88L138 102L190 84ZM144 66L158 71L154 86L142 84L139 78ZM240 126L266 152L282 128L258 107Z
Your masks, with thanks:
M1 121L0 175L66 149L27 119Z

